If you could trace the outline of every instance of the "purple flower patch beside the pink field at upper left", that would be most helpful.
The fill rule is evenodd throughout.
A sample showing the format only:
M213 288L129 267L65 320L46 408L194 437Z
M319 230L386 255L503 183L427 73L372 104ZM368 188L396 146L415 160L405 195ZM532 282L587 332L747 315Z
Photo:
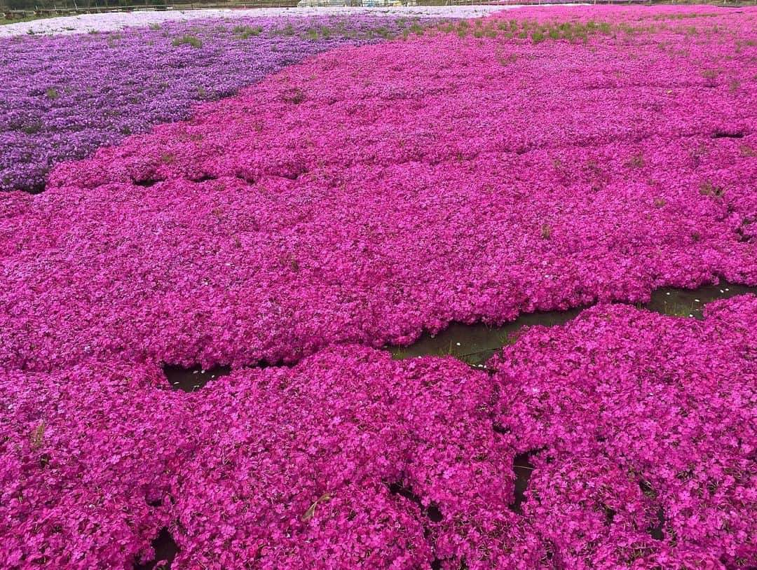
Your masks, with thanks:
M420 21L241 17L0 39L0 191L42 191L56 163L186 119L193 105L310 55L401 36Z

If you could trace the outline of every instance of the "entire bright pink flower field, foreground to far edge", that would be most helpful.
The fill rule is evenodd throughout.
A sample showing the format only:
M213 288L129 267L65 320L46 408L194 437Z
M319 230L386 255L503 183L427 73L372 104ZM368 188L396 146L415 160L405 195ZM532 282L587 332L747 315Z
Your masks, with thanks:
M757 568L757 8L400 28L0 194L0 568Z

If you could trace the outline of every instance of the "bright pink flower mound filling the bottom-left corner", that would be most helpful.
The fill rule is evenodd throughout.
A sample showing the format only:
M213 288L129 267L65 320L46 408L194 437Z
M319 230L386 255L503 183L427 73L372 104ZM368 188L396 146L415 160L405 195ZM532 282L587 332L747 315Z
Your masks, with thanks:
M149 549L194 450L179 434L195 423L160 382L117 364L0 373L2 568L126 568Z

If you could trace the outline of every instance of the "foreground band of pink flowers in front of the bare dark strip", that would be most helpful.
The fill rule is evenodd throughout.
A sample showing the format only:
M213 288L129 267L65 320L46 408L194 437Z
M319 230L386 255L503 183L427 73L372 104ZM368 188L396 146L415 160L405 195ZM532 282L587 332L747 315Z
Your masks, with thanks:
M147 563L167 528L173 568L743 568L755 319L600 305L493 376L360 346L192 394L152 365L6 374L0 562Z

